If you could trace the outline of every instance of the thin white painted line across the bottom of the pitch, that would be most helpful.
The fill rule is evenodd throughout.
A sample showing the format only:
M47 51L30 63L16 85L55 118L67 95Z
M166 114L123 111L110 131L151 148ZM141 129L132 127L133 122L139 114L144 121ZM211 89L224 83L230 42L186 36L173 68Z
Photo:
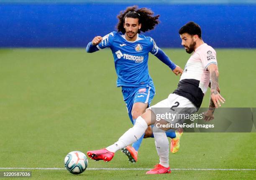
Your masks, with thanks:
M65 170L65 168L0 168L0 170ZM87 168L87 170L150 170L149 168ZM174 168L171 170L218 170L218 171L255 171L256 169L195 169L195 168Z

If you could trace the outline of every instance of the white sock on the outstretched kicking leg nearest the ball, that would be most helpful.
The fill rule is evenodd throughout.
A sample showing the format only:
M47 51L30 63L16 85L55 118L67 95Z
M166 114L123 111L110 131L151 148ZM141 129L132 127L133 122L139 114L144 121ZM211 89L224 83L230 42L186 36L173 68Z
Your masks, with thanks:
M126 131L117 142L106 148L108 151L115 153L116 151L125 148L126 146L136 142L145 133L148 125L146 121L139 116L136 119L135 125Z

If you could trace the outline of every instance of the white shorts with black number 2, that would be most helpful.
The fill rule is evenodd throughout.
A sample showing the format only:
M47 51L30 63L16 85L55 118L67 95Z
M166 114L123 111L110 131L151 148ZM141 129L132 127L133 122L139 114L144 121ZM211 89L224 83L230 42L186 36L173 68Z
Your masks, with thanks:
M157 114L165 114L172 113L172 114L192 114L194 112L197 112L197 107L188 100L186 97L182 97L177 94L169 94L168 98L165 100L162 100L155 105L152 105L151 107L148 107L147 110L150 109L154 112L155 115ZM182 118L175 117L175 119L166 119L170 123L179 123L181 122Z

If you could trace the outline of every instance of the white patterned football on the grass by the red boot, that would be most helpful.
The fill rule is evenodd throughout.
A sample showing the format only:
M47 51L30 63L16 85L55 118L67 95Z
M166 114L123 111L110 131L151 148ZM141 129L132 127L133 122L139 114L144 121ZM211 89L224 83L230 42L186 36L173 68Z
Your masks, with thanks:
M64 160L65 167L72 174L81 174L88 165L87 157L80 151L72 151L67 154Z

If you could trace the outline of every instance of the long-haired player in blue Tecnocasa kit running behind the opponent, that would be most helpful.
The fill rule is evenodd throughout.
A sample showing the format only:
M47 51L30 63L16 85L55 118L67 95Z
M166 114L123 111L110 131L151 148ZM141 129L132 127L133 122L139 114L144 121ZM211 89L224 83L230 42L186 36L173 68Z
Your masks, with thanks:
M154 12L145 7L141 9L138 9L137 6L127 7L118 15L118 32L110 32L104 37L96 36L86 47L87 52L95 52L105 47L110 47L112 50L115 70L118 75L117 87L122 87L123 99L133 125L137 117L150 106L155 95L153 80L148 73L148 53L151 52L169 66L175 75L183 72L157 47L151 37L140 35L141 31L152 30L155 25L159 24L159 15L153 16L153 14ZM166 136L171 138L172 153L179 150L180 135L174 131L166 132ZM128 146L122 149L132 163L137 161L138 149L143 137L154 137L150 126L144 136L133 143L132 147Z

